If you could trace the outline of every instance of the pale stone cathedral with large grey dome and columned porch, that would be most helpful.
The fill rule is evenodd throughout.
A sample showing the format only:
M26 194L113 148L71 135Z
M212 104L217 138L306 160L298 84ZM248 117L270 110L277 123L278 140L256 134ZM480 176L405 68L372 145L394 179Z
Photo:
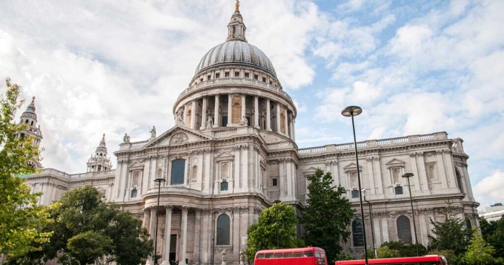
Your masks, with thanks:
M356 209L359 199L352 197L359 192L352 191L357 170L362 173L376 245L401 239L399 217L412 220L408 188L400 177L406 172L415 174L411 189L421 243L427 244L429 220L443 220L447 210L478 225L462 139L438 132L359 142L359 169L353 143L299 149L294 103L270 60L246 42L245 30L237 4L226 42L204 56L176 100L175 126L159 136L153 129L141 142L124 135L114 152L116 169L111 169L103 136L86 173L43 169L27 176L32 191L43 192L39 204L90 184L142 219L154 237L158 189L153 180L163 178L157 241L163 264L171 259L211 264L212 258L221 262L223 252L228 264L238 264L247 228L261 210L281 200L301 214L309 195L305 176L318 168L345 187ZM364 219L371 231L368 211ZM363 251L353 236L346 248Z

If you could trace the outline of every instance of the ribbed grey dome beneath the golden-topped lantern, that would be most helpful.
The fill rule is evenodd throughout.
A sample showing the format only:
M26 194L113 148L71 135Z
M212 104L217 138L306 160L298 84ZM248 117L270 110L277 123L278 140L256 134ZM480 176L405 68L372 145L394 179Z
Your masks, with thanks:
M277 76L270 59L258 47L241 40L230 40L211 48L201 59L196 74L209 67L240 64L257 67Z

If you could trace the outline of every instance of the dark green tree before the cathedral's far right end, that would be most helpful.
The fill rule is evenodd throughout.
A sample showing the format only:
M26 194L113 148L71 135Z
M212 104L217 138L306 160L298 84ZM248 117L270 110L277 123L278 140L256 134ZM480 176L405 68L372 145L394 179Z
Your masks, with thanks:
M445 222L434 222L430 220L434 226L432 233L435 235L428 235L429 246L428 249L443 249L453 250L456 255L460 255L466 251L471 238L471 231L466 229L464 222L459 219L445 219Z

